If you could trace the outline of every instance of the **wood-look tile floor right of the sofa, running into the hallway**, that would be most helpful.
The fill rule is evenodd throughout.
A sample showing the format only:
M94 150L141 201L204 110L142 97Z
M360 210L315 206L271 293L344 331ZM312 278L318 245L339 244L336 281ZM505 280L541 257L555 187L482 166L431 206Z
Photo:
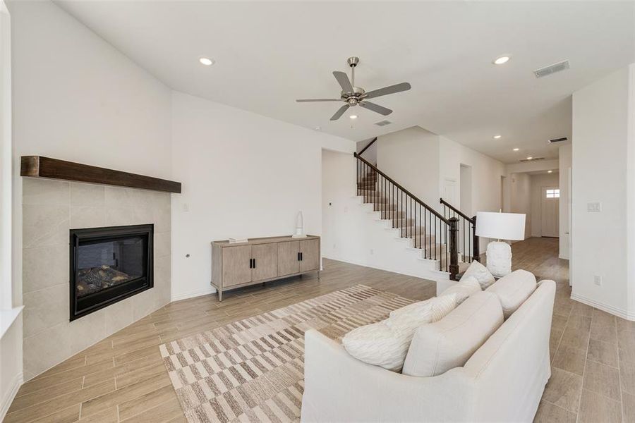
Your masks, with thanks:
M557 238L514 243L512 269L557 283L552 375L535 422L635 422L635 322L571 300Z

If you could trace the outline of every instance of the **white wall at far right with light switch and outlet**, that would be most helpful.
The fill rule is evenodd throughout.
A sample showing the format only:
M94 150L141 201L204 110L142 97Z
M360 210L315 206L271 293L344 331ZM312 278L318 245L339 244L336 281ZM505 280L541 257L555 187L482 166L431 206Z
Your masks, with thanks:
M634 85L631 65L574 92L571 156L571 297L629 319L635 319ZM590 202L600 202L602 211L588 212Z

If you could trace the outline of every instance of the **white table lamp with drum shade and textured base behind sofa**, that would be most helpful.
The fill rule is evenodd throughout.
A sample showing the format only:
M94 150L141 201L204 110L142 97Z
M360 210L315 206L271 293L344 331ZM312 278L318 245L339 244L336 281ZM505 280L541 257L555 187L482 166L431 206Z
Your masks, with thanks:
M525 215L519 213L476 213L476 236L495 238L488 244L488 270L496 277L512 273L512 247L501 240L525 239Z

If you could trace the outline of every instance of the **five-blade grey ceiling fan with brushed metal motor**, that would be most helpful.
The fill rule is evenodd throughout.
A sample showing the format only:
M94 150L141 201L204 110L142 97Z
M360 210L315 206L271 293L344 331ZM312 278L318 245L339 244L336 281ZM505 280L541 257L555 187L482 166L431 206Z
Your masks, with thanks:
M392 113L392 110L387 109L384 106L380 106L379 104L368 102L368 99L374 99L375 97L381 97L382 95L394 94L395 92L408 91L411 86L408 82L401 82L401 84L390 85L389 87L383 87L379 90L373 90L366 92L361 87L355 86L355 66L359 63L358 57L349 57L346 60L351 67L351 80L349 80L348 75L345 72L335 71L333 75L339 85L341 86L341 93L339 99L300 99L296 100L298 103L307 103L307 102L344 102L344 106L341 106L338 111L335 112L333 116L331 116L332 121L337 121L337 119L341 118L341 115L344 114L349 107L352 106L361 106L364 109L372 110L375 113L382 114L384 116L388 116Z

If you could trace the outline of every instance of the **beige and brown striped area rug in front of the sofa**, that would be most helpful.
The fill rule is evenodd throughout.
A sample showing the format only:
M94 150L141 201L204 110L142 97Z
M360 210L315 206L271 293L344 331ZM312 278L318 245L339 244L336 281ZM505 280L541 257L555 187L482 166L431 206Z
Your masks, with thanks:
M409 305L357 285L160 345L189 423L295 422L304 390L304 332L340 340Z

